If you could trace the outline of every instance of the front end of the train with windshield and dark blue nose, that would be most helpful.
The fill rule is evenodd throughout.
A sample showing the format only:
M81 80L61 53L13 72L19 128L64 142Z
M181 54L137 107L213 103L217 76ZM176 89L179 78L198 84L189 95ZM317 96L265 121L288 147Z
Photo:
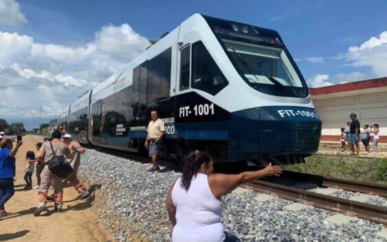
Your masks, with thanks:
M230 111L227 160L258 165L305 162L305 157L318 151L322 124L279 34L243 23L204 19L234 67L223 71L231 86L214 99ZM235 71L238 75L233 78Z

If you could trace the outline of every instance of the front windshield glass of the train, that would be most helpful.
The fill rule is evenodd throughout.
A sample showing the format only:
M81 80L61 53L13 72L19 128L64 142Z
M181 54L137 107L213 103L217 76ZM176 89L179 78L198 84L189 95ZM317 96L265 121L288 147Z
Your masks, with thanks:
M221 38L232 61L250 84L302 88L284 49Z

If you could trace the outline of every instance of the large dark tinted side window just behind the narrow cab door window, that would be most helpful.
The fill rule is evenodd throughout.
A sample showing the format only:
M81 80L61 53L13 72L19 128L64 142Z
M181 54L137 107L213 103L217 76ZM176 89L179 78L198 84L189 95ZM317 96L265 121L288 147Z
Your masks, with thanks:
M149 60L148 104L169 97L171 48Z

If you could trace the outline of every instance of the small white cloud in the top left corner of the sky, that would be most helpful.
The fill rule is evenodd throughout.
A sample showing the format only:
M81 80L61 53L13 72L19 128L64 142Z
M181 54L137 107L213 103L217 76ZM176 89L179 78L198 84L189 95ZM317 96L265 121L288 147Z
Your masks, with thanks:
M14 0L0 1L0 25L22 25L27 23L24 14L20 12L20 5Z

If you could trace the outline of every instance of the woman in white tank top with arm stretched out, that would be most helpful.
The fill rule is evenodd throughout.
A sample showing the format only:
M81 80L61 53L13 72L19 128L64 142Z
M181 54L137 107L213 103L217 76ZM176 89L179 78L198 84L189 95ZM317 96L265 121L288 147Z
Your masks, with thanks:
M206 152L191 152L183 176L168 189L166 208L173 225L173 242L238 242L221 223L221 197L244 182L282 173L280 167L270 164L260 171L213 174L213 165Z

